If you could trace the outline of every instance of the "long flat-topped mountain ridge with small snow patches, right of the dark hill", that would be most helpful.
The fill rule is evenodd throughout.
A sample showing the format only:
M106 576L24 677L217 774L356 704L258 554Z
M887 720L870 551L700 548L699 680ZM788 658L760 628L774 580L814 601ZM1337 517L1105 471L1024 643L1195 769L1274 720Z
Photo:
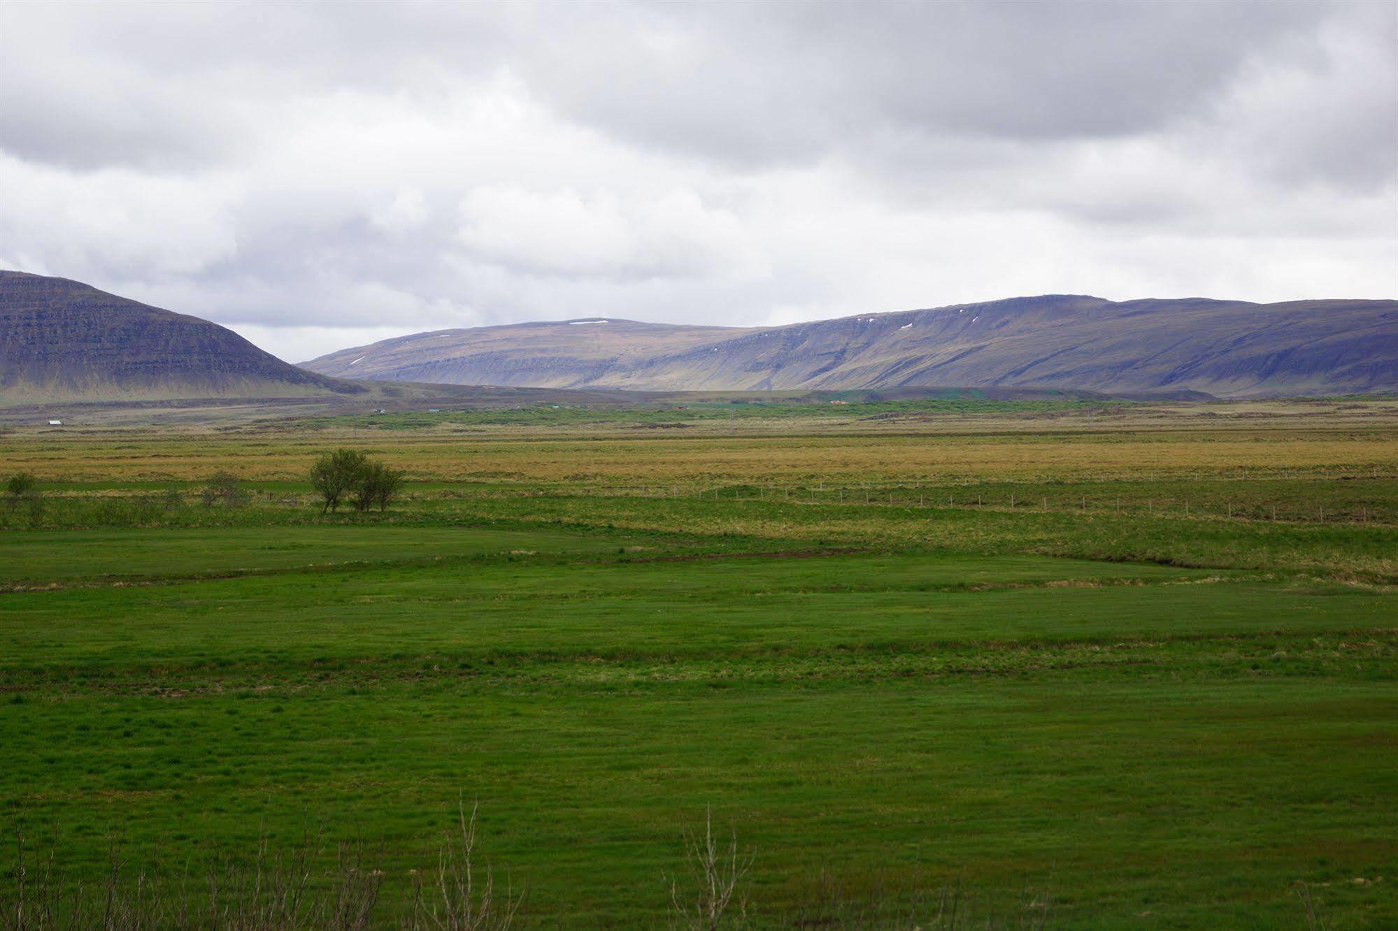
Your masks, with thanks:
M534 387L1345 394L1398 390L1398 301L1044 295L756 329L587 319L419 333L302 365Z

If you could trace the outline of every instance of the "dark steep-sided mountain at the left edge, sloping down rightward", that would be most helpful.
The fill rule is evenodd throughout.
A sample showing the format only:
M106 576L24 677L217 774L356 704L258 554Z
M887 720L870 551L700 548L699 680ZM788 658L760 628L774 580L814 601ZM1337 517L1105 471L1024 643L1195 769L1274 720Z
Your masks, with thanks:
M359 391L208 320L67 278L0 271L0 403Z

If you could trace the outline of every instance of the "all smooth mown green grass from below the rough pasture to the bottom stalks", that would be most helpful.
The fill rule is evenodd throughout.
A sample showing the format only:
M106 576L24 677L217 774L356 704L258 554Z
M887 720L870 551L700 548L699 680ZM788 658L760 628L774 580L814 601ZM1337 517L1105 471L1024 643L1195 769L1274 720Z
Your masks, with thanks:
M148 552L221 533L144 531ZM1295 879L1335 882L1336 916L1395 914L1353 882L1398 857L1384 591L949 552L661 561L562 531L521 558L519 531L457 533L495 555L0 596L11 811L78 872L112 830L171 856L323 816L382 840L403 893L466 793L542 924L663 923L706 805L758 851L769 924L822 867L1004 903L1028 879L1081 927L1271 927ZM55 563L108 544L35 537Z

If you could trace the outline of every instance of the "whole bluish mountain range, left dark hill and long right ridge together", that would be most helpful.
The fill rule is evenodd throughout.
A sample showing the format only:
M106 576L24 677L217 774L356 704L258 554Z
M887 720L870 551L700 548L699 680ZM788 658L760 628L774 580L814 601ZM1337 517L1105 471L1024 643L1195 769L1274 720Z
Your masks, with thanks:
M418 333L295 366L199 317L67 278L0 271L4 404L384 397L410 389L384 382L633 391L1037 389L1138 397L1398 391L1398 301L1262 305L1044 295L776 327L587 317Z

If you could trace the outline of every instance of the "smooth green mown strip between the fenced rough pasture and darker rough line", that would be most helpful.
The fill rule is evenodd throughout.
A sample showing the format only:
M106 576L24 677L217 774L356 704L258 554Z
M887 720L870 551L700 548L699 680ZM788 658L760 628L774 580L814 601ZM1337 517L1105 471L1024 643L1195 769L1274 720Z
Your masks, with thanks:
M934 654L959 644L1054 644L1398 626L1391 596L1158 569L1158 584L938 590L966 561L846 556L752 565L482 566L270 576L8 596L0 670L324 667L383 661L629 663L802 651ZM1044 572L979 561L987 575ZM1047 566L1051 570L1057 566ZM1110 576L1103 568L1078 576ZM1120 577L1131 580L1132 568ZM829 573L843 576L832 584ZM931 576L931 577L924 577ZM1060 573L1060 579L1072 573ZM1043 580L1043 579L1040 579ZM1201 584L1204 583L1204 584ZM679 597L677 597L677 593ZM256 605L229 612L228 605ZM850 618L858 623L851 626ZM119 618L120 623L112 623Z

